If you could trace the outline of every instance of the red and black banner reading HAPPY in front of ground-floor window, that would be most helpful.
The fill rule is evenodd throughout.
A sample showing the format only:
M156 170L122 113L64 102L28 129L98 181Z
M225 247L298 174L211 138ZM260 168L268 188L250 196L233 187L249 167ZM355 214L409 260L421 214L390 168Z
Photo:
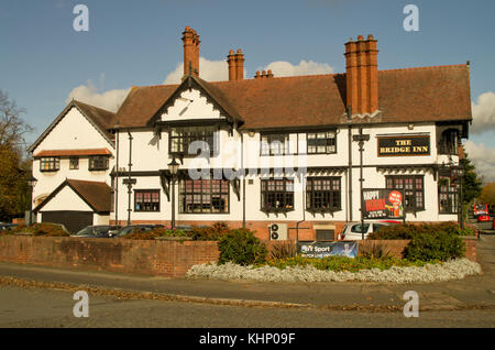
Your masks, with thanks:
M399 189L363 188L364 219L404 219L404 194Z

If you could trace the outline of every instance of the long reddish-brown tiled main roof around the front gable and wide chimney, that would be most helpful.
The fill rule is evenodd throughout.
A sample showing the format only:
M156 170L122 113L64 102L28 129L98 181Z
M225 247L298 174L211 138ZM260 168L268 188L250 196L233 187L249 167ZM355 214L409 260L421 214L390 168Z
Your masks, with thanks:
M345 74L200 81L226 110L244 121L245 129L346 123ZM178 87L134 87L116 120L121 128L146 125ZM380 70L378 96L381 113L373 118L355 117L353 122L472 119L468 65Z

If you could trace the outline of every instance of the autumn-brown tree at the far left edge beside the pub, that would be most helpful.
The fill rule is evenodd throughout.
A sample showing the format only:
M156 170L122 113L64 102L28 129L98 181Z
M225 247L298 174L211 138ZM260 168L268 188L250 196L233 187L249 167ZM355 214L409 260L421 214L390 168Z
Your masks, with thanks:
M7 92L0 90L0 220L11 220L30 206L30 188L26 179L31 176L25 152L24 135L33 128L22 120L23 108L11 101Z

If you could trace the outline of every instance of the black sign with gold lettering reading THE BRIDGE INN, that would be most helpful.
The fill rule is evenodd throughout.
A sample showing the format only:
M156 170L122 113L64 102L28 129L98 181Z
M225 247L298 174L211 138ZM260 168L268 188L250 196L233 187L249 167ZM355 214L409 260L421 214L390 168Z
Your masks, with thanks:
M429 135L378 136L378 156L430 155Z

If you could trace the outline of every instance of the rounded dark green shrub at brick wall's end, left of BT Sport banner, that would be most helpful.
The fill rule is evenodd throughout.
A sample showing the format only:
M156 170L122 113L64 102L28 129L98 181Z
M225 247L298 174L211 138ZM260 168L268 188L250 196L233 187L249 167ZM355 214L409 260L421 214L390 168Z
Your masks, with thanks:
M248 229L234 229L226 233L218 248L219 264L230 261L239 265L251 265L266 261L266 245Z

